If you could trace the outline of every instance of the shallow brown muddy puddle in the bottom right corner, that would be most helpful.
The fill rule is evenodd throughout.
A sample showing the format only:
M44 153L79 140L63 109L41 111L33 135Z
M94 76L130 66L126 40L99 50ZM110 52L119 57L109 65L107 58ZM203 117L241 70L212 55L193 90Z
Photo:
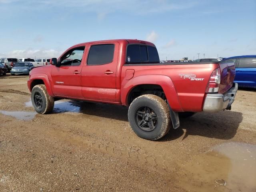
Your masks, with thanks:
M225 143L180 166L185 190L256 192L256 145Z

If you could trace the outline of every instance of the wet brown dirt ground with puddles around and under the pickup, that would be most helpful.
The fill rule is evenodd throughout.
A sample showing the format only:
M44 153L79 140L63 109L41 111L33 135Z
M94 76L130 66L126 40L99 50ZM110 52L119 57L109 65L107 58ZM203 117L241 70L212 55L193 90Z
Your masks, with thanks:
M28 76L0 76L0 191L256 191L256 91L197 113L161 140L123 106L60 100L36 114Z

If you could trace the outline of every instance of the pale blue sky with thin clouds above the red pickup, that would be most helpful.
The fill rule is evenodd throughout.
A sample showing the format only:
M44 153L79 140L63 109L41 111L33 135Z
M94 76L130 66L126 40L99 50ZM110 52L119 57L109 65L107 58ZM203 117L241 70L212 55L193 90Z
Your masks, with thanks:
M256 54L256 0L0 0L0 10L0 57L119 38L153 42L160 60Z

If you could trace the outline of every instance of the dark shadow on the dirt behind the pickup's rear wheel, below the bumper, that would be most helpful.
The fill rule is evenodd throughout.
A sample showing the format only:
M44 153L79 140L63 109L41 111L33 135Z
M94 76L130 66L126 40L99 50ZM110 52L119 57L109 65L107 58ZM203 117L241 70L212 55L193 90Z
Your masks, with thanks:
M174 140L182 135L184 135L182 140L190 135L228 140L236 135L242 119L242 113L228 110L217 113L197 113L190 118L180 118L180 127L170 130L161 140Z

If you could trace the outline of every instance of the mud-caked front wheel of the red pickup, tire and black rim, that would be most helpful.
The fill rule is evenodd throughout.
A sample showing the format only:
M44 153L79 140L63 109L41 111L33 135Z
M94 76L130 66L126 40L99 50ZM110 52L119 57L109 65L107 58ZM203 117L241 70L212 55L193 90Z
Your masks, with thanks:
M54 98L48 94L43 84L33 87L31 101L36 112L40 114L50 113L54 107Z

